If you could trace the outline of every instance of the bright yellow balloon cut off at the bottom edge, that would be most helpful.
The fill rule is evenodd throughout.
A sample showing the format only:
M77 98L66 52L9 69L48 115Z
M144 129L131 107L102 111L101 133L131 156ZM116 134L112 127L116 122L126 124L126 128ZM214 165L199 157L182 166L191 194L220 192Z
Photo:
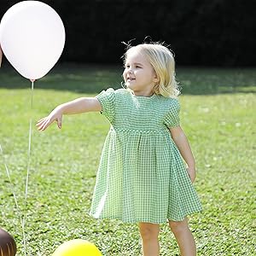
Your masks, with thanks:
M73 239L57 247L52 256L102 256L102 253L90 241Z

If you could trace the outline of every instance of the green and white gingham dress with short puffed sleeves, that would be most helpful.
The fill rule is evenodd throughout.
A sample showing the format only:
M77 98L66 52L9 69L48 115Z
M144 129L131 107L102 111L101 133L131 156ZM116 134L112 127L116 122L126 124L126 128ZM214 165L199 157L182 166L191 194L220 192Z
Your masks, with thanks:
M201 202L168 129L179 125L177 99L112 88L96 98L111 128L90 215L161 224L200 212Z

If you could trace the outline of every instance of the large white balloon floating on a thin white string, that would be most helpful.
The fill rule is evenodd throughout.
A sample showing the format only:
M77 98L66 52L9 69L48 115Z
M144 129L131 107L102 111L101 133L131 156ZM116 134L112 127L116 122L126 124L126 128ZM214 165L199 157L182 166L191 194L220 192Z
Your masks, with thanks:
M26 79L40 79L55 66L65 44L60 16L46 3L23 1L3 15L0 44L13 67Z

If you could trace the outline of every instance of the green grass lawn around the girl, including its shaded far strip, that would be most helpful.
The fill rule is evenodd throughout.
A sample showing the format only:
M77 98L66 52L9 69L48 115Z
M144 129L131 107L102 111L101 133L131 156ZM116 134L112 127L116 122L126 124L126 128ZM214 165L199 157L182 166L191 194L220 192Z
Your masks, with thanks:
M197 189L203 212L189 218L198 255L253 255L255 232L254 68L177 68L183 85L181 120L197 162ZM96 220L88 215L108 121L99 113L65 116L38 132L32 127L31 171L26 182L29 120L33 124L61 102L118 88L121 69L65 65L35 83L12 69L0 70L0 226L9 230L24 255L19 211L26 212L27 255L51 255L63 241L92 241L104 256L140 255L136 224ZM4 163L11 172L12 183ZM254 219L254 222L253 222ZM178 255L166 224L161 255Z

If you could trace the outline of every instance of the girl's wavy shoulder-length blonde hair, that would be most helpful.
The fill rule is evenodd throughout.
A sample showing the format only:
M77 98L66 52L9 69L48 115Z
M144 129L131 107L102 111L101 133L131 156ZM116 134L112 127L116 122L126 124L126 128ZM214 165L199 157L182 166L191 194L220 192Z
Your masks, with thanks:
M160 43L137 44L136 46L127 45L124 61L131 50L138 50L146 56L159 83L154 86L154 94L165 97L177 97L180 94L175 78L175 61L170 49Z

